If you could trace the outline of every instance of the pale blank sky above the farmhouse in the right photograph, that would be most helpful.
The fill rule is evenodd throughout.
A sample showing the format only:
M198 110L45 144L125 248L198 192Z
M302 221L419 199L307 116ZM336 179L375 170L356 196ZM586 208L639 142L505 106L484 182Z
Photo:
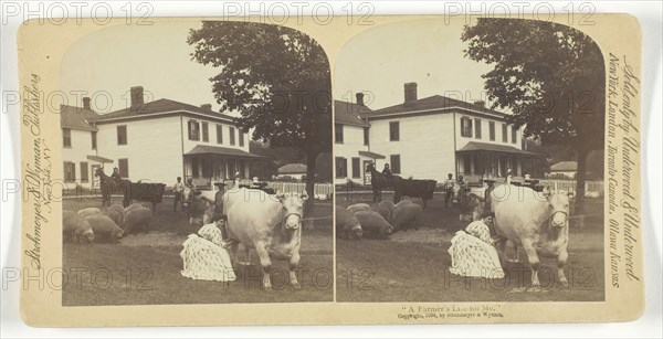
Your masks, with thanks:
M356 35L336 63L334 97L354 102L355 93L369 91L367 106L378 109L401 104L403 84L415 82L419 98L438 94L486 100L481 75L493 67L464 56L462 30L440 18L379 25Z

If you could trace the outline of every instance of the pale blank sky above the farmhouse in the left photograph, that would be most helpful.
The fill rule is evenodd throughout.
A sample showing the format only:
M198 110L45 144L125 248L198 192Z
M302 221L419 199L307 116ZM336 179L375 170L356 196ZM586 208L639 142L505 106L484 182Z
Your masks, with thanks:
M98 113L126 108L131 86L144 87L146 102L169 98L218 109L209 81L218 71L192 61L193 46L187 43L189 30L200 27L199 21L155 22L91 33L63 56L62 91L86 91Z

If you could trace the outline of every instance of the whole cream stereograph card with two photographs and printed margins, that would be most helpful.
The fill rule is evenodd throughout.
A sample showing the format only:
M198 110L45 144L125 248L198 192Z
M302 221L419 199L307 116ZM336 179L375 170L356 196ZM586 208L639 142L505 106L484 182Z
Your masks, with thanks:
M633 17L278 19L20 28L28 325L639 317Z

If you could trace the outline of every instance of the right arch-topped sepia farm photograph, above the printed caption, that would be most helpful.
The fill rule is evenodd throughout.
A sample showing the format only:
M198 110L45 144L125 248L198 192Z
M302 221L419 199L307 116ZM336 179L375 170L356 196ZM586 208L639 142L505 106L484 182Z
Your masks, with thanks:
M348 42L334 78L338 301L604 300L590 36L404 21Z

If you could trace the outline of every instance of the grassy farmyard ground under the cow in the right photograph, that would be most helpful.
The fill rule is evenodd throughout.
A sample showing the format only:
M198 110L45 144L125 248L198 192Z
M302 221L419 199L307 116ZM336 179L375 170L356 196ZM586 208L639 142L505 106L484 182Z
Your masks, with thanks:
M390 194L382 194L391 199ZM350 197L350 195L346 195ZM337 197L347 206L371 197ZM360 201L356 199L360 198ZM420 199L411 199L421 204ZM451 237L466 226L444 195L435 194L423 210L422 229L397 232L389 240L338 240L336 243L338 301L598 301L604 299L602 201L586 202L585 226L571 223L569 259L565 272L569 286L557 280L557 263L541 258L541 288L530 288L527 255L505 267L503 279L465 278L449 273ZM573 218L571 213L571 218ZM573 219L575 220L575 219Z

